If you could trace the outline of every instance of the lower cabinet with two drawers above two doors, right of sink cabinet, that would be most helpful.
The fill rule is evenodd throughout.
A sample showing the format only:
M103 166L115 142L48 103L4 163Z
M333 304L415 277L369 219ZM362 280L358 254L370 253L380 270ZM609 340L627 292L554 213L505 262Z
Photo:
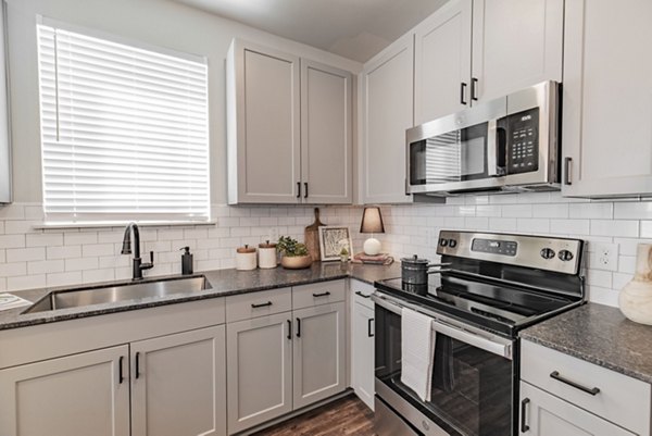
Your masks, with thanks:
M347 388L344 298L343 281L227 297L230 435Z

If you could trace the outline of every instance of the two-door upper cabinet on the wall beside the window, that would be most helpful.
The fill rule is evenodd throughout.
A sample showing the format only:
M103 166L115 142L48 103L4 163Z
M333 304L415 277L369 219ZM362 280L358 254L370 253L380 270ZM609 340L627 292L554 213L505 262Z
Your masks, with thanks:
M228 202L350 203L351 74L235 39Z

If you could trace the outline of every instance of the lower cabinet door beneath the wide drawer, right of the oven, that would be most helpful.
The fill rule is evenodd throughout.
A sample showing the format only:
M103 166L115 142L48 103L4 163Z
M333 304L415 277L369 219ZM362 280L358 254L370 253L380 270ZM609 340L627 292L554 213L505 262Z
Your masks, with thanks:
M521 382L519 413L518 434L524 436L634 436L634 433L524 382Z

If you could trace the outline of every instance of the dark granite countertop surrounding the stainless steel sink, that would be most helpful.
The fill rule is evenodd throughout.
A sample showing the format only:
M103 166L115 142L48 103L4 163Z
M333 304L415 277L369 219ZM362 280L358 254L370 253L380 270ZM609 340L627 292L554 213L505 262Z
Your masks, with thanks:
M0 331L53 323L58 321L74 320L78 317L103 315L114 312L124 312L128 310L147 309L158 306L196 301L206 298L225 297L235 294L253 292L258 290L275 289L287 286L298 286L310 283L334 281L338 278L353 277L373 284L375 281L384 278L400 277L401 266L399 262L396 262L390 266L341 264L340 262L315 262L310 269L305 270L285 270L279 266L273 270L254 271L216 270L201 272L196 275L199 274L205 275L208 281L211 283L211 289L195 291L191 294L176 294L167 297L148 297L138 300L93 304L71 309L59 309L55 311L43 311L26 314L21 314L21 312L25 311L28 307L3 310L0 311ZM172 277L181 276L177 275L151 278L158 279ZM84 288L90 286L112 286L128 283L131 282L115 281L105 282L102 284L87 284L59 288L20 290L10 294L14 294L32 302L36 302L52 290Z

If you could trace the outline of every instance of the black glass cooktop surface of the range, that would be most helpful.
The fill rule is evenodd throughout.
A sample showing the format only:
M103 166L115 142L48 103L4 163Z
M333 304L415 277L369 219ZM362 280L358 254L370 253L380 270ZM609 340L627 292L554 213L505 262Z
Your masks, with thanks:
M477 326L515 337L518 329L581 303L575 298L537 291L463 273L430 274L427 285L401 278L375 283L380 291L450 314Z

